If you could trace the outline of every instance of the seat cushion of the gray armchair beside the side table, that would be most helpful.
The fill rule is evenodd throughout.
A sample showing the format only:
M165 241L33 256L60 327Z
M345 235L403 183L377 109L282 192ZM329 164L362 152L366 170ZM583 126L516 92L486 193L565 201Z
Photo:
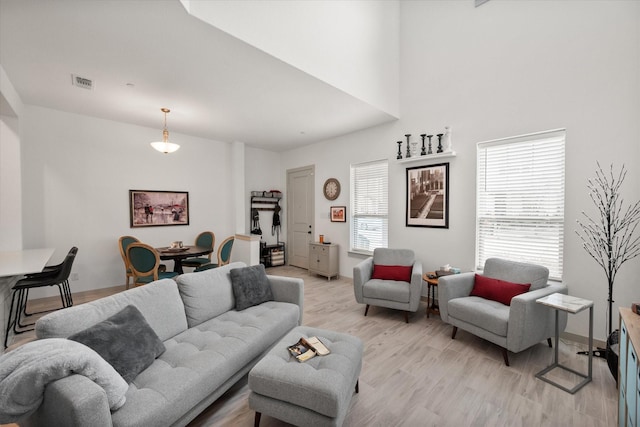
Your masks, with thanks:
M501 337L507 336L509 306L481 297L454 298L449 316L476 325Z

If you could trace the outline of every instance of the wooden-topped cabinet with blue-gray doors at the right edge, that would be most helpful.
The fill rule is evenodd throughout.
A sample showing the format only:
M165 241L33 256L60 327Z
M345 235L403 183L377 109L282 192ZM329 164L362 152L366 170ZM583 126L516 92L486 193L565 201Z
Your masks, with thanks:
M640 316L620 308L618 426L640 427Z

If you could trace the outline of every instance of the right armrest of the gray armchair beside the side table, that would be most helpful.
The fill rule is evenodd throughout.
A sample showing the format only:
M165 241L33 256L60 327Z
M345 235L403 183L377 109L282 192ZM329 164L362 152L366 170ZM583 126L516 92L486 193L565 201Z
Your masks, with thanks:
M555 335L555 313L553 309L538 304L538 298L553 293L567 294L566 285L553 284L526 292L511 300L509 309L509 329L507 330L507 350L518 352ZM567 313L558 316L559 331L567 326Z

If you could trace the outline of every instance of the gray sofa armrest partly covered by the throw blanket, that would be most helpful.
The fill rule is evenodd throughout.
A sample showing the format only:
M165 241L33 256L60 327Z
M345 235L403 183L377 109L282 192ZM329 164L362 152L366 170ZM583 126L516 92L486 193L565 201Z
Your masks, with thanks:
M82 375L59 379L47 385L40 407L20 425L111 427L107 394Z

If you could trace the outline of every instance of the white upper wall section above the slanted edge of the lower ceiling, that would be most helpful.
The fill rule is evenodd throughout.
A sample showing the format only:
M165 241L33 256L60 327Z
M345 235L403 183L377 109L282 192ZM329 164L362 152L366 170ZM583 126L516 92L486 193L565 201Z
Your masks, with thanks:
M398 116L399 1L194 1L193 16Z

